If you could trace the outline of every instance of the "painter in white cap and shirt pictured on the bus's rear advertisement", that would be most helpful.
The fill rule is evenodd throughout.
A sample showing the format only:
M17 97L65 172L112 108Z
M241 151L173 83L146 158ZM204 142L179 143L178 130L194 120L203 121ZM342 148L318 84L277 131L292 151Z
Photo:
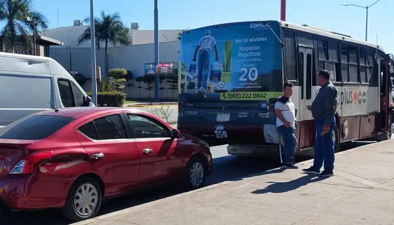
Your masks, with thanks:
M215 49L215 60L219 61L218 48L216 46L215 38L211 36L211 32L208 30L198 42L193 57L193 62L196 62L196 57L198 53L197 93L198 95L204 97L206 97L206 86L209 74L209 65L211 62L210 58L212 47Z

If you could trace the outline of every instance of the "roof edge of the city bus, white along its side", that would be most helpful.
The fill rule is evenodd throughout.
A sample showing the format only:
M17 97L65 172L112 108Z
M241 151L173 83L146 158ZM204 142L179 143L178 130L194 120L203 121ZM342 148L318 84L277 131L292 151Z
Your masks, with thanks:
M248 23L248 22L250 22L250 23L258 23L258 22L264 22L264 21L243 21L243 22L236 22L236 23L216 24L216 25L211 25L211 26L216 26L217 28L219 28L222 25L237 24L237 23ZM277 23L280 24L281 27L286 27L286 28L290 28L290 29L293 29L293 30L314 33L314 34L317 34L317 35L331 37L333 39L348 41L348 42L351 42L351 43L361 44L361 45L369 46L369 47L372 47L372 48L378 48L382 52L385 52L383 50L383 48L380 47L379 45L377 45L376 43L358 40L358 39L355 39L355 38L353 38L353 37L351 37L349 35L346 35L346 34L341 34L341 33L338 33L338 32L332 32L332 31L321 29L321 28L316 28L316 27L313 27L313 26L310 26L310 25L292 24L292 23L289 23L287 21L270 20L269 22L277 22ZM208 27L211 27L211 26L206 26L206 27L202 27L202 28L208 28ZM197 29L201 29L201 28L197 28ZM192 32L193 30L197 30L197 29L186 30L185 32Z

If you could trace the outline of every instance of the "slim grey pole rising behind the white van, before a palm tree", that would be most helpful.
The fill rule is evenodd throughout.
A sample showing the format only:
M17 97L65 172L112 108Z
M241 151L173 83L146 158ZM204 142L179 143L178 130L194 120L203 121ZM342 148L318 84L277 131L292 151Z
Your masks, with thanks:
M95 35L94 35L93 0L90 0L90 41L91 41L91 54L92 54L92 100L93 100L93 104L97 106L96 45L95 45Z

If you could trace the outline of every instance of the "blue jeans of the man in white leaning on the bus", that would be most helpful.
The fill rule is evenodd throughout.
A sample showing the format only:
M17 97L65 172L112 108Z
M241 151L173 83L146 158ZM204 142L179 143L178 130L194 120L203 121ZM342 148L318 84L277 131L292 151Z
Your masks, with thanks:
M283 163L294 162L295 149L297 147L297 138L292 127L286 128L284 125L276 128L283 137Z

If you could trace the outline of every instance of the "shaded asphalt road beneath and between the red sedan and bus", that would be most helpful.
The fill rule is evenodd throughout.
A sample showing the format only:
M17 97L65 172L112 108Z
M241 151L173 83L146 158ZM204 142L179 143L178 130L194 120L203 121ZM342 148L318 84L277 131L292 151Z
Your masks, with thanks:
M345 149L364 145L366 143L352 143ZM222 181L236 179L238 177L251 175L265 170L273 169L279 166L278 160L275 159L239 159L235 156L227 154L226 146L217 146L211 148L214 163L214 172L212 176L207 178L207 185L220 183ZM306 158L298 159L298 161L306 160ZM100 210L100 215L118 211L131 206L154 201L160 198L168 197L183 190L177 185L170 185L157 190L146 193L131 194L129 196L115 198L104 204ZM60 210L41 210L36 212L18 212L13 213L9 217L4 218L0 214L0 221L4 225L69 225ZM8 223L5 223L8 222ZM0 223L2 224L2 223Z

